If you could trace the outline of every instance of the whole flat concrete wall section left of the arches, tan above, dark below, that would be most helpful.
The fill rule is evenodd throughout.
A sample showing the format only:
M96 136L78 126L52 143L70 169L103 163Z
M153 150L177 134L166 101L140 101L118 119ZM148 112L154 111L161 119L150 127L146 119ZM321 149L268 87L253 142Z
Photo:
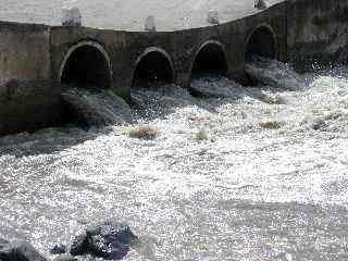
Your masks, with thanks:
M0 135L54 124L60 89L50 79L50 27L0 22Z

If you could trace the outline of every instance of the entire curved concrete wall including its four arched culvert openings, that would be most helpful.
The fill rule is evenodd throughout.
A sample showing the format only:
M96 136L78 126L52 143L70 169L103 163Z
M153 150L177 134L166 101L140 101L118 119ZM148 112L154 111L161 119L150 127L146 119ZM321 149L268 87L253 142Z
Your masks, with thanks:
M204 72L243 80L251 54L346 61L347 0L270 2L227 23L173 32L0 22L0 135L60 124L62 86L110 88L128 101L140 80L189 87Z

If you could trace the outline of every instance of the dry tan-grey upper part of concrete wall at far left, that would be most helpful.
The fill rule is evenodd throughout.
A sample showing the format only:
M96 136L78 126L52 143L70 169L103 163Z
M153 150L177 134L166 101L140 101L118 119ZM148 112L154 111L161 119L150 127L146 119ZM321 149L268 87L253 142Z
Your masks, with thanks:
M0 79L50 77L50 27L0 22Z

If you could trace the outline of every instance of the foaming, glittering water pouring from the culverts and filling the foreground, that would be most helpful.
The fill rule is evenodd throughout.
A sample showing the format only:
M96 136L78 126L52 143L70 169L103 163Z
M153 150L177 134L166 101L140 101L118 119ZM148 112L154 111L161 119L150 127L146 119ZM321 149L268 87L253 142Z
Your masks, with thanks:
M246 70L259 86L136 88L136 110L65 94L89 124L112 125L1 138L0 235L50 257L111 219L144 243L129 261L346 260L348 70L299 76L262 58ZM141 126L154 137L130 135Z

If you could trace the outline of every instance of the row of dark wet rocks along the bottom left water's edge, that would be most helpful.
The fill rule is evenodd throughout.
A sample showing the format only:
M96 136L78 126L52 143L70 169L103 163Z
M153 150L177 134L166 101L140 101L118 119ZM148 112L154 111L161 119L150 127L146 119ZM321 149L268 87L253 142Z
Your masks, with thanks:
M104 260L121 260L139 243L129 226L117 222L102 222L77 235L70 247L57 245L50 253L54 261L75 261L77 256L91 256ZM29 243L8 241L0 238L0 261L49 261Z

